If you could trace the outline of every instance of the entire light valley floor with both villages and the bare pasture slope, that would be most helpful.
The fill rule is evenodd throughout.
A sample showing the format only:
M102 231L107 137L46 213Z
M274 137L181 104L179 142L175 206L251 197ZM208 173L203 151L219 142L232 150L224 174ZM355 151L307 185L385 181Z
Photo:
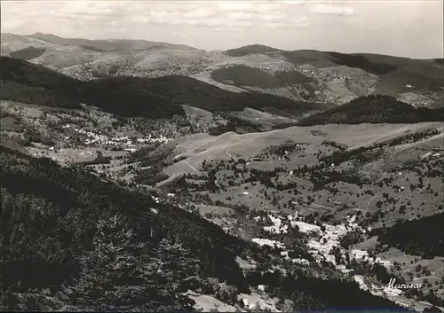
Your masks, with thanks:
M210 136L184 131L176 121L147 127L88 107L60 111L2 102L2 112L3 144L19 143L36 158L151 192L160 204L201 215L226 233L273 250L274 267L334 270L405 306L442 306L442 241L406 250L380 237L399 223L442 215L441 122ZM256 267L255 260L240 262L247 272ZM392 277L424 287L385 288ZM264 288L240 294L238 300L248 302L240 308L254 309L258 302L278 311ZM198 309L240 309L210 295L188 296Z

